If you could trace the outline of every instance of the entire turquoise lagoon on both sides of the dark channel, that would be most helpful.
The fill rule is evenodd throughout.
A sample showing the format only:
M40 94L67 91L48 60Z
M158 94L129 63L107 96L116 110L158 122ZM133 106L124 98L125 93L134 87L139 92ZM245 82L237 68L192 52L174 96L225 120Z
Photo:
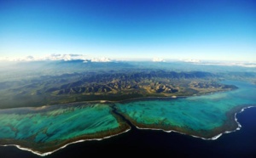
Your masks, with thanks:
M256 86L224 82L236 90L177 99L134 99L119 103L84 103L0 110L0 144L20 144L52 151L79 138L104 138L129 129L127 120L141 128L188 133L211 138L235 121L234 108L256 105ZM114 106L121 116L113 112ZM228 115L232 111L231 115ZM230 117L231 116L231 117ZM237 123L236 123L237 126ZM236 128L233 127L232 130ZM4 142L4 143L3 143ZM44 150L42 150L44 149Z

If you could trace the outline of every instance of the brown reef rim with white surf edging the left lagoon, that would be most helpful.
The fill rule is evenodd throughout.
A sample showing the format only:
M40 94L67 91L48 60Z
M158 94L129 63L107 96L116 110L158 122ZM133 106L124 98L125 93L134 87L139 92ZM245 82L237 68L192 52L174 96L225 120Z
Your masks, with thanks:
M56 106L56 107L58 109L60 108L59 106ZM44 108L44 110L54 110L56 107L49 106L50 109ZM62 107L67 108L67 106L62 106ZM109 107L109 108L111 108L111 107ZM31 110L31 109L29 109L29 110ZM27 111L26 109L25 109L25 111L30 112L30 111ZM36 112L42 112L42 111L36 110ZM110 112L111 112L110 115L115 117L116 121L119 122L119 127L115 127L115 128L108 129L105 131L99 131L96 133L83 134L83 135L77 136L75 138L57 139L57 140L53 140L50 142L43 142L43 143L34 142L34 141L32 141L32 139L30 140L29 138L24 139L24 140L10 139L10 138L4 139L3 138L0 143L0 146L16 146L17 148L19 148L21 150L29 150L29 151L32 151L32 153L36 153L37 155L49 155L49 154L55 152L56 150L60 150L64 147L66 147L67 144L79 143L81 141L83 142L86 140L102 140L103 138L110 138L115 135L119 135L121 133L126 133L129 130L131 130L131 127L125 121L123 121L121 118L119 118L119 116L113 114L112 110L110 110ZM32 137L34 137L34 136L32 136Z

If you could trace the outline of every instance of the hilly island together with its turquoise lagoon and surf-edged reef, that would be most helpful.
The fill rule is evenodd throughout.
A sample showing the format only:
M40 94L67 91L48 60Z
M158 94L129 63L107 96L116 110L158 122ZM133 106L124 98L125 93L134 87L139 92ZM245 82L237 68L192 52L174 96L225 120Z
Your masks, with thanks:
M122 70L0 82L0 145L43 156L134 127L214 140L239 130L236 114L256 104L253 77L245 82L230 80L229 73Z

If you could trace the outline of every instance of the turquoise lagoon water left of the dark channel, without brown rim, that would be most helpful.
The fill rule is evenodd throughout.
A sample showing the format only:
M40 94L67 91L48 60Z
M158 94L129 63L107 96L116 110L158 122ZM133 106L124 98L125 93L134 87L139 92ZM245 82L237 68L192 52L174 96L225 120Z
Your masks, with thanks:
M19 111L22 111L19 113ZM102 133L119 127L108 104L62 106L54 110L2 110L0 138L47 143Z

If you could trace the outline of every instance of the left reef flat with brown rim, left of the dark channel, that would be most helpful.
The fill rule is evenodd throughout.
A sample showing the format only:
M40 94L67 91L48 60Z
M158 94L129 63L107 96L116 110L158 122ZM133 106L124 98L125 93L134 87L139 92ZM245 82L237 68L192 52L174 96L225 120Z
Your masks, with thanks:
M100 103L0 110L0 124L1 144L18 144L38 155L130 129L108 104Z

